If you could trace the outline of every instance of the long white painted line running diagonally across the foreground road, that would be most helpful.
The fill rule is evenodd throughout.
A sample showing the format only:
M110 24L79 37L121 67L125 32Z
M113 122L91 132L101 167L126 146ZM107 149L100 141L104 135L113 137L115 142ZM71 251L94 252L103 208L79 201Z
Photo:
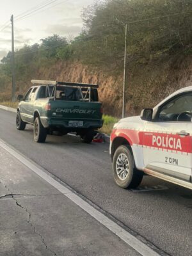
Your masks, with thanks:
M126 244L131 246L138 253L143 256L159 256L159 254L152 250L152 248L147 246L147 244L132 236L132 234L127 232L127 230L124 230L124 228L116 224L115 221L110 220L106 215L102 214L102 212L98 211L92 205L88 204L88 202L83 200L80 196L76 195L76 193L72 192L63 184L60 184L60 182L52 178L51 174L48 174L42 167L33 163L33 161L29 160L27 157L24 157L22 154L10 147L6 142L1 139L0 147L4 148L4 150L9 152L16 159L18 159L22 164L26 165L29 170L32 170L42 179L46 180L49 184L51 184L54 188L58 189L58 191L63 193L63 195L65 195L67 198L72 200L72 202L81 207L81 209L90 214L90 216L95 218L95 220L99 221L102 225L104 225L104 227L111 230L111 232L113 232L116 236L120 237L120 239L122 239Z

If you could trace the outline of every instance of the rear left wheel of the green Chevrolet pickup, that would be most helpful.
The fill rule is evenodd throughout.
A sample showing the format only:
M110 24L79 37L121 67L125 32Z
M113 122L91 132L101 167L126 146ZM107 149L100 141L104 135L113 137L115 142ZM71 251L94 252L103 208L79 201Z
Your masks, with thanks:
M34 140L36 142L40 142L40 143L45 142L47 137L47 130L42 125L39 116L35 118L33 134L34 134Z

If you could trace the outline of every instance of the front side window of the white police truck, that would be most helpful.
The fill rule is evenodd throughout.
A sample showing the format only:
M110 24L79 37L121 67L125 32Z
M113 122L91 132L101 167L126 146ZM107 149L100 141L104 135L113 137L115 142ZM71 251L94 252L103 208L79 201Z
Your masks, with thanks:
M182 95L173 99L161 108L159 121L191 122L192 118L192 94Z

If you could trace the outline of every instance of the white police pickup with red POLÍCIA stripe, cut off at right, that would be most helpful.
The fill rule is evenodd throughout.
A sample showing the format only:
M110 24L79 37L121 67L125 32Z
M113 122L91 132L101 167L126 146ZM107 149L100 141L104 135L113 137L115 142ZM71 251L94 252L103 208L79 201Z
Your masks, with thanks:
M113 177L136 188L143 174L192 189L192 86L173 93L141 116L123 118L110 140Z

